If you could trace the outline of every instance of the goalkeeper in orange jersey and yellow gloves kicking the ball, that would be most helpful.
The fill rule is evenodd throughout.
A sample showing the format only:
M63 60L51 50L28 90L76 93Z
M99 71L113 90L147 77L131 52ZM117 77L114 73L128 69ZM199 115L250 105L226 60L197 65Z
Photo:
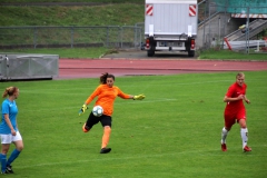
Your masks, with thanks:
M88 109L88 105L97 97L97 101L95 106L101 106L103 108L103 115L100 117L96 117L90 112L87 122L82 126L82 130L88 132L96 123L99 121L103 127L103 136L102 136L102 145L100 154L108 154L111 151L111 148L107 148L109 142L109 136L111 132L111 116L113 113L113 102L116 97L120 97L122 99L134 99L134 100L142 100L145 98L144 95L131 96L123 93L118 87L113 86L115 76L108 72L102 73L100 76L100 85L96 88L96 90L88 97L85 105L82 105L80 112L83 113Z

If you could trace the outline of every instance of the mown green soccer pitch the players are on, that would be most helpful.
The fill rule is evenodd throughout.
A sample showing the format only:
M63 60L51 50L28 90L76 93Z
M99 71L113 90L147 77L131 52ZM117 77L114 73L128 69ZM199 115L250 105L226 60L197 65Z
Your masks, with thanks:
M9 81L20 96L18 123L24 150L13 162L27 178L264 178L267 175L267 71L246 72L248 144L241 151L239 127L220 151L222 98L236 72L117 77L127 93L145 93L142 101L115 102L112 151L100 155L102 128L83 134L89 110L78 110L98 79ZM89 105L92 107L92 103ZM12 147L13 148L13 147Z

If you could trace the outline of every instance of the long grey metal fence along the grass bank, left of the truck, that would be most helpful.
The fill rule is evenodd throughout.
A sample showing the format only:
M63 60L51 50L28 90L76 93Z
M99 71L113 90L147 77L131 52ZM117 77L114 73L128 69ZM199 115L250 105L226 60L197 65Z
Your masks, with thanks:
M144 30L137 26L0 27L0 49L107 47L140 48Z

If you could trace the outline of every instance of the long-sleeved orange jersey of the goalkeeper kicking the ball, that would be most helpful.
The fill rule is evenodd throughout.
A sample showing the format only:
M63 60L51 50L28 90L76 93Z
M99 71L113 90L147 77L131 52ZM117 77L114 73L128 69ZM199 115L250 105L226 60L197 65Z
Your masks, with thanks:
M111 116L113 112L113 101L116 97L129 99L130 95L123 93L118 87L109 87L108 85L100 85L88 97L86 103L89 105L96 97L98 97L95 106L99 105L103 108L103 115Z

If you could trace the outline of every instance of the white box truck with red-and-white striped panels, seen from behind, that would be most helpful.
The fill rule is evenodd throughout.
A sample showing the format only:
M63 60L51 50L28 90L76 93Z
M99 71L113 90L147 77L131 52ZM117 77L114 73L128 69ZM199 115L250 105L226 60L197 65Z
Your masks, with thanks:
M145 50L187 51L195 56L198 28L197 0L146 0Z

